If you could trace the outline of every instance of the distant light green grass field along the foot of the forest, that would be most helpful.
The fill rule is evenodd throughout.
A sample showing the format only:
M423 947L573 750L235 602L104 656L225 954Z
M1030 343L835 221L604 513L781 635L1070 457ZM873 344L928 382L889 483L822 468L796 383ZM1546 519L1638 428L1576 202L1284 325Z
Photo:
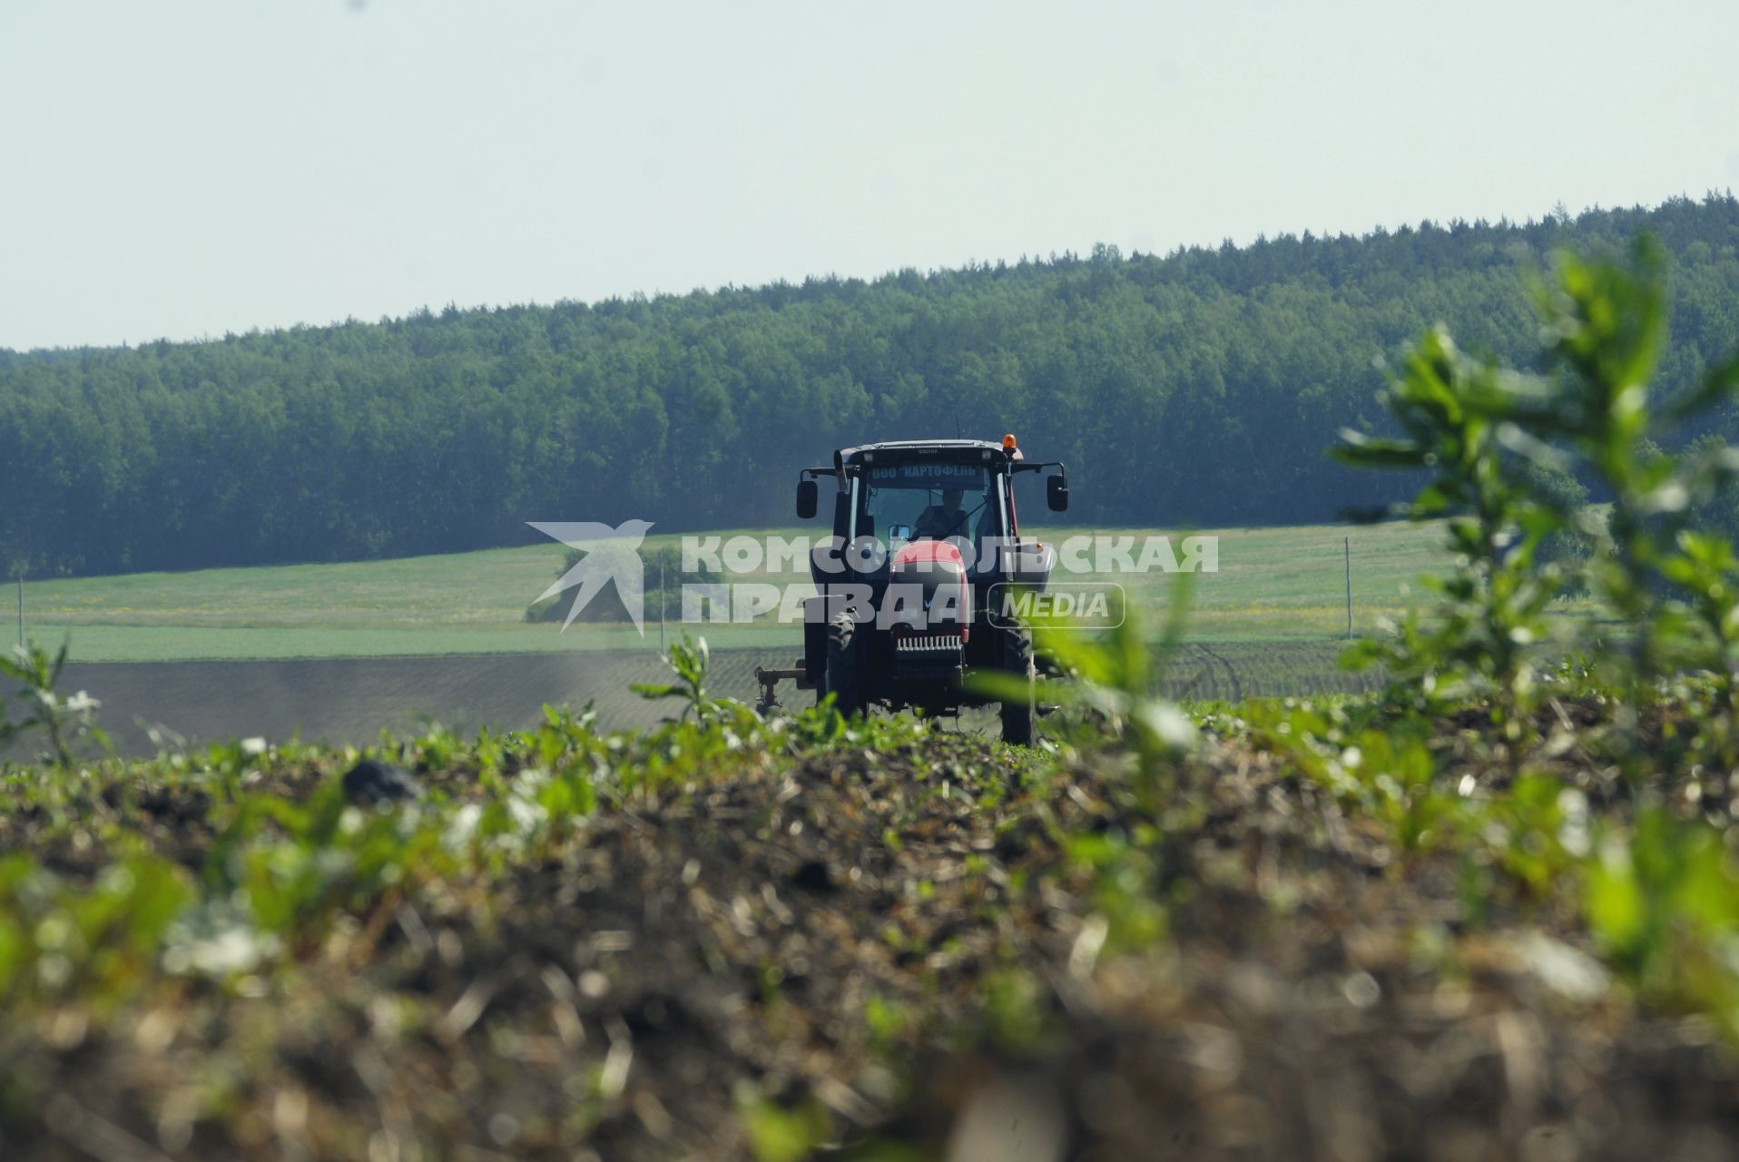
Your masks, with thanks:
M784 536L814 529L774 531ZM1143 534L1146 531L1116 531ZM1370 630L1407 605L1414 578L1443 565L1436 525L1297 525L1207 531L1219 538L1219 571L1195 578L1189 637L1217 640L1327 640L1346 633L1346 564L1351 539L1353 623ZM756 531L755 536L760 536ZM1040 531L1063 539L1078 531ZM676 536L647 544L678 544ZM1174 534L1176 543L1176 534ZM525 607L555 578L556 543L445 557L146 572L115 578L28 583L26 621L43 642L71 638L80 661L395 658L430 654L515 654L556 651L656 649L630 624L523 621ZM795 581L807 576L756 574L743 581ZM1059 574L1061 579L1061 574ZM1078 578L1068 578L1078 579ZM1115 576L1148 623L1170 590L1160 574ZM678 609L670 611L671 631ZM779 647L798 628L762 619L751 624L690 626L720 649Z

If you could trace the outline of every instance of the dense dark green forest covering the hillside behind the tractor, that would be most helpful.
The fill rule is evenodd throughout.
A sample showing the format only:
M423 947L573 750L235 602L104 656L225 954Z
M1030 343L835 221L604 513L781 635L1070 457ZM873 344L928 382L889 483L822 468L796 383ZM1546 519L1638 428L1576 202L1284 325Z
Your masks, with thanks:
M1518 271L1636 230L1675 256L1673 391L1739 339L1730 195L0 351L0 567L431 553L527 539L525 520L788 522L795 470L838 444L1005 430L1069 461L1076 520L1329 518L1407 489L1323 456L1337 428L1383 424L1383 360L1447 322L1530 364Z

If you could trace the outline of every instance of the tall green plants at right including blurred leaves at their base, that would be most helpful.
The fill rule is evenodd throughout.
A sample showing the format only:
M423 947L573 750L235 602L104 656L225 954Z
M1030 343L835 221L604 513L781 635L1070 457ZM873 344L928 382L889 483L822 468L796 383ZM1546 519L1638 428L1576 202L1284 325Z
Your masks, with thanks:
M1593 842L1582 793L1541 772L1518 772L1461 816L1485 865L1527 898L1546 898L1563 877L1581 884L1591 938L1638 995L1709 1014L1739 1037L1739 872L1725 828L1680 818L1704 785L1725 798L1739 767L1730 511L1739 449L1704 435L1680 454L1661 451L1678 424L1739 388L1739 358L1678 398L1650 398L1666 341L1666 280L1647 238L1628 261L1558 256L1551 278L1536 282L1536 303L1548 376L1471 364L1433 332L1388 397L1402 437L1344 433L1337 454L1348 463L1431 473L1405 515L1447 518L1457 550L1452 574L1435 586L1440 602L1351 659L1388 663L1400 684L1391 701L1414 711L1442 715L1469 698L1489 699L1506 736L1522 738L1539 696L1530 654L1563 584L1541 550L1555 538L1560 546L1586 543L1582 571L1598 607L1563 619L1567 658L1548 684L1612 708L1617 732L1602 748L1638 793L1635 819L1607 823ZM1563 487L1572 475L1609 498L1605 529L1577 489ZM1572 565L1581 557L1553 555ZM1424 724L1417 713L1396 715L1388 731ZM1555 739L1574 745L1574 734L1563 720ZM1386 819L1398 842L1426 833L1419 823L1429 819L1416 816L1421 807L1435 814L1429 753L1370 762L1377 739L1369 732L1330 745L1325 724L1297 715L1268 734L1283 736L1306 772ZM1548 755L1556 753L1551 741ZM1346 760L1355 751L1360 764ZM1403 793L1384 793L1384 778L1358 778L1360 765L1402 771L1393 785ZM1671 795L1685 779L1701 785Z

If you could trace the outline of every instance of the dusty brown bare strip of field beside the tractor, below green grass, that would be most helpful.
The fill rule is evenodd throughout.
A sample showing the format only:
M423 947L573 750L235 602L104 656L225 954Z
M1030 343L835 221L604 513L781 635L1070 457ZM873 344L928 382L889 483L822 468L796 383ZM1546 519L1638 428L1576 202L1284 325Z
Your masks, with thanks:
M1236 699L1370 689L1369 675L1334 666L1336 642L1219 642L1188 645L1163 689L1181 699ZM753 701L755 666L790 666L791 651L716 651L711 691ZM591 701L612 729L649 725L673 706L630 691L661 680L647 652L508 654L459 658L337 658L308 661L170 661L70 664L63 692L101 699L99 722L122 753L153 753L151 729L186 741L301 736L362 745L383 729L412 731L424 718L473 732L536 722L544 703ZM790 684L781 698L807 706Z

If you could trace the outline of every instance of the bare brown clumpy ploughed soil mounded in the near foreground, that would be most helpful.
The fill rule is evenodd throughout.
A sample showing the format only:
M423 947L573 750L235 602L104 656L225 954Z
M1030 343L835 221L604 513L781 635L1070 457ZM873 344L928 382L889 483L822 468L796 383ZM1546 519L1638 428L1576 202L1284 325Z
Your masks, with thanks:
M0 1157L1734 1157L1730 1049L1549 903L1476 920L1456 854L1238 741L1134 849L1123 772L1021 765L948 736L748 764L388 892L270 981L9 1018ZM205 791L92 797L83 844L9 814L0 851L202 866Z

